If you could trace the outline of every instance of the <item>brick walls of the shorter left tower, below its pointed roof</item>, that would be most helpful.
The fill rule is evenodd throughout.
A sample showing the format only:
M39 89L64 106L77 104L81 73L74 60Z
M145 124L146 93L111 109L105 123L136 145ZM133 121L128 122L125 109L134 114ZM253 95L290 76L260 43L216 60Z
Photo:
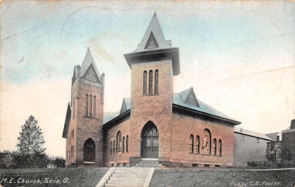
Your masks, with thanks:
M103 149L102 149L102 121L103 121L103 104L102 104L102 85L90 85L81 83L77 84L80 79L77 79L73 84L73 97L76 97L76 110L75 118L73 119L73 107L72 117L68 128L68 140L66 142L66 150L68 150L68 159L66 165L83 164L83 147L84 142L91 138L95 143L95 165L103 164ZM77 96L77 88L79 89L79 96ZM95 117L86 117L86 94L96 96L96 110ZM92 100L94 97L92 97ZM90 104L90 103L89 103ZM71 138L71 132L74 129L74 138ZM74 156L69 158L69 150L74 145Z

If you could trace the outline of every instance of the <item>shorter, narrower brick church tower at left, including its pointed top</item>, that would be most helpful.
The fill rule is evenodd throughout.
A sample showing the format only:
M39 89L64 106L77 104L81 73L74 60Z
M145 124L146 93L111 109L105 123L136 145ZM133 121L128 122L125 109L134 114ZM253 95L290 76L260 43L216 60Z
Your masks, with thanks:
M71 96L62 136L67 139L66 165L101 166L104 73L99 74L89 48L81 67L74 68Z

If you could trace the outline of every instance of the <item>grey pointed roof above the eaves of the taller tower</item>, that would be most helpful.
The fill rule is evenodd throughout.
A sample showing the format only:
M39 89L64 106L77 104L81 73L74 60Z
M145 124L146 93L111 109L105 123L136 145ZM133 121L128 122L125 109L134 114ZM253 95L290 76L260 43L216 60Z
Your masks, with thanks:
M155 47L148 47L148 43L150 40L154 40ZM145 50L158 50L158 49L167 49L171 47L171 41L165 40L162 28L160 26L158 17L156 12L154 12L152 19L148 24L148 28L146 33L141 41L141 43L137 46L135 52L141 52Z

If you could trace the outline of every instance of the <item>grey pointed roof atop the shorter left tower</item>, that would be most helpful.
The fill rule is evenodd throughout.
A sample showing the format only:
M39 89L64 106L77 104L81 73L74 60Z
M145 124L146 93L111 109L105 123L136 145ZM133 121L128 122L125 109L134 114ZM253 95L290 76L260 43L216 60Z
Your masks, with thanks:
M93 59L91 52L88 48L86 55L84 57L83 63L81 65L80 77L84 77L86 75L86 72L88 72L89 70L94 71L94 74L97 76L99 82L101 83L102 82L101 75L95 65L94 59ZM77 66L75 66L75 68L74 68L74 75L77 77Z

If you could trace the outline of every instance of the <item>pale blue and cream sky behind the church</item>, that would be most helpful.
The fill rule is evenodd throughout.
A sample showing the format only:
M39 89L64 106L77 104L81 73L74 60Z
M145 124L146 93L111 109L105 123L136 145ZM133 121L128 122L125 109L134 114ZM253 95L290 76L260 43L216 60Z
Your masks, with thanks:
M245 129L270 133L290 125L294 1L5 1L0 149L15 149L20 126L32 114L44 131L47 152L64 154L65 143L58 148L56 143L63 141L71 76L88 47L106 74L104 109L118 111L131 89L123 54L136 49L154 11L166 40L179 47L175 93L193 86L199 99Z

